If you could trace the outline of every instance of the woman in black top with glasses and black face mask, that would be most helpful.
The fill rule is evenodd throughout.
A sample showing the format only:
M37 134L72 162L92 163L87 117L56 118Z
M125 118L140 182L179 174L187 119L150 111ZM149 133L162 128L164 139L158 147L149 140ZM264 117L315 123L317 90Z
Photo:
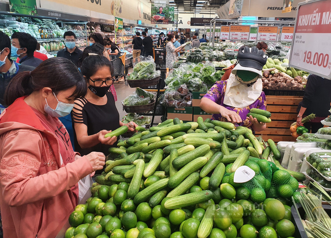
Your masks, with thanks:
M104 135L123 125L133 131L137 125L120 121L114 96L109 90L114 83L114 69L109 60L90 53L82 61L80 71L88 81L89 89L86 95L75 100L72 110L75 148L80 155L89 154L91 151L107 155L110 147L116 147L118 138L104 138ZM99 170L97 174L101 172Z

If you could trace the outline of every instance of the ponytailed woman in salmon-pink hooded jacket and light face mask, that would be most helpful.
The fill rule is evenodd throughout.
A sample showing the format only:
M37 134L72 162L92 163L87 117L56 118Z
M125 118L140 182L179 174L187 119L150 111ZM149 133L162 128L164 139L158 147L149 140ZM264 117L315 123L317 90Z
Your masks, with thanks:
M4 237L56 237L78 203L78 181L103 167L103 153L73 151L58 119L86 92L78 69L58 57L10 82L0 117Z

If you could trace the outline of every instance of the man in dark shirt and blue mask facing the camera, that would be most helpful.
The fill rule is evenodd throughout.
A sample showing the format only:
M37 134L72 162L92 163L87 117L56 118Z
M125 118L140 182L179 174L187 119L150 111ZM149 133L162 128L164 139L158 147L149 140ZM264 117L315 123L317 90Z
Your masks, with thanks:
M78 67L78 60L82 54L82 51L76 47L76 35L72 31L66 31L63 34L64 43L66 48L59 50L57 57L69 59Z

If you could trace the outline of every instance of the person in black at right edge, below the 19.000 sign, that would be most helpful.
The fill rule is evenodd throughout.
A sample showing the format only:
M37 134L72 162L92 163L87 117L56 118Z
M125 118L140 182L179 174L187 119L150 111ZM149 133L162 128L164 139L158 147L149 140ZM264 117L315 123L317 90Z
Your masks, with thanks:
M331 103L331 80L324 79L317 75L310 75L307 80L304 99L299 104L296 124L304 125L312 133L316 133L319 128L323 127L321 121L330 115ZM316 118L310 122L302 124L301 120L314 113Z

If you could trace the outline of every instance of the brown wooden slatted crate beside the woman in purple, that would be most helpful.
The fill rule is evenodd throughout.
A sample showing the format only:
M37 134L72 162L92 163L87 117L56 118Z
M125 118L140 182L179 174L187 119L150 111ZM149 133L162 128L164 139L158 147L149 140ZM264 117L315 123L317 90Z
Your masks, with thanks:
M296 141L291 135L290 126L296 121L298 104L302 96L266 96L267 111L271 112L271 122L267 128L256 135L262 135L263 140L274 142Z

